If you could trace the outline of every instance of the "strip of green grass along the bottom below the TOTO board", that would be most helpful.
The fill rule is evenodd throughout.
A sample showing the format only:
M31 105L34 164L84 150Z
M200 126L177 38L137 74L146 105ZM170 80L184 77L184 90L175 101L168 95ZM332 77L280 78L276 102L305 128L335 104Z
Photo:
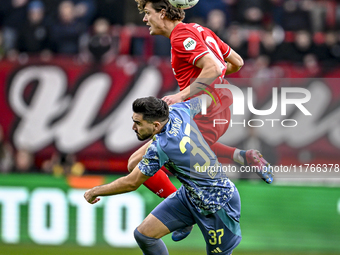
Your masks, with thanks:
M169 250L170 255L205 255L201 250ZM38 245L0 245L0 255L141 255L139 249L117 249L110 247L79 247L79 246L38 246ZM335 255L327 252L289 252L289 251L238 251L233 255Z

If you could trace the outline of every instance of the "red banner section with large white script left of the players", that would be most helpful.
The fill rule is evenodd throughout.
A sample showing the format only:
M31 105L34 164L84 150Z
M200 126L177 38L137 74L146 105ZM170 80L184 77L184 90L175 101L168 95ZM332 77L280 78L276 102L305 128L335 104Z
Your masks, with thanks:
M2 61L0 84L0 124L16 149L35 153L38 166L58 150L77 154L87 169L112 171L126 171L142 144L132 130L132 102L177 88L167 60L147 65L129 56L101 67L72 58Z

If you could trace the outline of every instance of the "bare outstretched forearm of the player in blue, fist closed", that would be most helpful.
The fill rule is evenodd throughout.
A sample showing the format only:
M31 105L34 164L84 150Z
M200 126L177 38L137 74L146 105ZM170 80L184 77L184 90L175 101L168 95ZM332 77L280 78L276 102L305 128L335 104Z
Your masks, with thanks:
M138 167L135 167L127 176L121 177L109 184L96 186L87 190L84 198L90 204L94 204L99 201L98 196L111 196L134 191L149 178L150 177L144 175Z

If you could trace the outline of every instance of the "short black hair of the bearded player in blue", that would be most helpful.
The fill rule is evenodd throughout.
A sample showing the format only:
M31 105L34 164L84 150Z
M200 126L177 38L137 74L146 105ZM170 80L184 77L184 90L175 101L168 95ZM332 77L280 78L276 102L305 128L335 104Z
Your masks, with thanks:
M152 121L165 121L169 118L169 106L156 97L143 97L136 99L132 104L135 113L143 114L143 119Z

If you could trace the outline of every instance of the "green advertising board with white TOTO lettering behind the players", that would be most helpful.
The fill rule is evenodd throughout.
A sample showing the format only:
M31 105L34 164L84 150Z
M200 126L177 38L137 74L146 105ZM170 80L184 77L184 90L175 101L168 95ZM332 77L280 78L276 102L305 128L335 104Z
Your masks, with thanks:
M144 186L101 198L95 205L76 187L113 181L113 176L55 178L3 175L0 178L0 243L136 247L134 229L162 200ZM179 187L177 180L173 183ZM340 188L275 186L235 182L242 200L239 250L340 252ZM169 247L204 250L197 226Z

